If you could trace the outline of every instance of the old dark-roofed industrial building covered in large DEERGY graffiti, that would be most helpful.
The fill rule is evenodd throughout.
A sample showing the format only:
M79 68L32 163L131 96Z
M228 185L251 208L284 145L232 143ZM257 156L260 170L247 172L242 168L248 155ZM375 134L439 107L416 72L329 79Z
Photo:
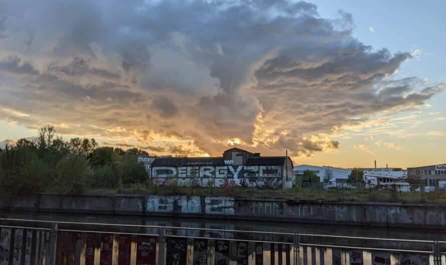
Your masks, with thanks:
M158 185L176 181L182 185L291 188L293 161L288 156L261 156L239 148L218 157L163 157L151 164L151 179Z

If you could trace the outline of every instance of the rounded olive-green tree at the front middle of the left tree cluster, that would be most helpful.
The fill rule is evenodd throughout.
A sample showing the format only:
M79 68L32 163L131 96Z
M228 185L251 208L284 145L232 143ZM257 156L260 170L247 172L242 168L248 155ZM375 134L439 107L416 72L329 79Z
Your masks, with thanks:
M85 156L69 154L56 165L56 183L61 191L82 193L87 189L88 163Z

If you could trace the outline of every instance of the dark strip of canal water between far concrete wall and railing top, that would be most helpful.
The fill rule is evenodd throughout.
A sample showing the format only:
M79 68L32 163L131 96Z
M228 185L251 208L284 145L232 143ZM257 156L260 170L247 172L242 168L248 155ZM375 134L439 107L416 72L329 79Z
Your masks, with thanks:
M278 220L246 221L219 218L188 218L188 217L159 217L159 216L126 216L104 214L61 214L42 212L2 212L0 218L18 218L48 221L69 222L97 222L114 224L138 224L195 227L210 229L248 230L265 232L287 232L306 234L331 234L344 236L363 236L379 238L416 239L446 241L446 227L444 229L387 228L355 225L328 225L320 223L292 223Z

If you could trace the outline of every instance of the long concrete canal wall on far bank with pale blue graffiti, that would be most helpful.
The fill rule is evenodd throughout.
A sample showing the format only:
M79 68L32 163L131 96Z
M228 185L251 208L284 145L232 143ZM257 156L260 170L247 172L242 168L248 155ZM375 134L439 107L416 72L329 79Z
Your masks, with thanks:
M5 201L4 209L122 215L446 227L446 205L388 202L303 201L276 198L159 195L34 194Z

